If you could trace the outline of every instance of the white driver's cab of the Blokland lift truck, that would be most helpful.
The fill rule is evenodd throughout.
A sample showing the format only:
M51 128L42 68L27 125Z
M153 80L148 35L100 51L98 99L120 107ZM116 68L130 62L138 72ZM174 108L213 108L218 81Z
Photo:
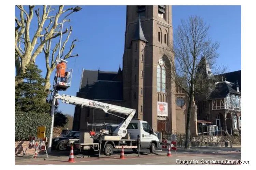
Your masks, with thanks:
M139 135L141 148L150 149L151 153L155 153L156 148L160 146L157 134L144 120L132 119L127 127L127 133L131 134L131 139L137 139Z

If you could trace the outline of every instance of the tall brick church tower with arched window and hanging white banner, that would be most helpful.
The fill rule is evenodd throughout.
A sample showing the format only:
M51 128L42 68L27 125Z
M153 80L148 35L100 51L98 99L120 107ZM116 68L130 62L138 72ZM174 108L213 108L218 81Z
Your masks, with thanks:
M125 107L136 109L136 117L158 131L176 129L175 95L171 93L175 85L166 74L172 58L165 55L172 41L171 6L127 6L123 55ZM168 105L166 115L158 114L161 104Z

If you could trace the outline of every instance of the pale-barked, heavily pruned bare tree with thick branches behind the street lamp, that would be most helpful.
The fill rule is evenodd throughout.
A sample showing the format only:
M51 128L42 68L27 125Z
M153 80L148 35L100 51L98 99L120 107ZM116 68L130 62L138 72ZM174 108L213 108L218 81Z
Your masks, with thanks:
M20 15L18 17L15 16L15 68L16 75L23 73L25 68L30 63L35 63L36 57L44 51L45 54L45 62L46 62L46 81L49 82L49 77L54 68L54 61L56 58L54 57L54 53L58 48L58 44L55 45L52 55L51 52L51 44L52 40L60 36L60 27L61 23L58 23L60 16L67 11L73 10L73 8L67 8L63 10L63 5L59 6L59 9L55 15L50 16L49 14L55 11L55 9L51 9L51 6L44 5L42 15L40 15L40 8L34 10L34 5L29 5L29 10L26 11L24 6L17 5L17 8L20 10ZM38 27L36 30L30 30L31 21L34 17L34 12L37 16ZM19 19L18 19L19 18ZM69 21L69 20L67 20ZM46 26L45 26L46 24ZM63 50L65 49L65 45L69 39L72 28L70 30L66 29L62 32L62 34L68 33L68 37L65 40L61 47L61 57L63 57ZM32 34L32 36L31 36ZM30 39L32 37L32 40ZM71 44L69 52L64 55L64 58L72 57L71 52L75 47L74 40ZM49 64L49 58L52 56L51 64ZM78 56L78 55L74 55ZM15 82L15 84L18 82ZM45 84L45 88L49 88L49 83Z

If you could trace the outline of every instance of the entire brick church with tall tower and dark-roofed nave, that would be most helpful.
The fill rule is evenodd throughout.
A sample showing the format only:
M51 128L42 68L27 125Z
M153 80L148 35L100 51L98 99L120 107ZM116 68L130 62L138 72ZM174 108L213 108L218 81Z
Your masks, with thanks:
M147 121L155 131L185 133L185 95L166 74L173 58L163 51L172 41L171 6L127 6L123 68L119 66L117 72L83 70L77 97L136 109L134 118ZM73 129L86 131L87 122L120 121L103 111L76 106Z

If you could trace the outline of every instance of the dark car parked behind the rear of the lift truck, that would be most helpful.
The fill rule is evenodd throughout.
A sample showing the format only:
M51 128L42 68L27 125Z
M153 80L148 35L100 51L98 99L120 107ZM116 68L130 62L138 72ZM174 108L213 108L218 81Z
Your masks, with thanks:
M52 150L65 151L68 149L69 139L79 139L81 131L71 131L65 136L55 137L52 140Z

